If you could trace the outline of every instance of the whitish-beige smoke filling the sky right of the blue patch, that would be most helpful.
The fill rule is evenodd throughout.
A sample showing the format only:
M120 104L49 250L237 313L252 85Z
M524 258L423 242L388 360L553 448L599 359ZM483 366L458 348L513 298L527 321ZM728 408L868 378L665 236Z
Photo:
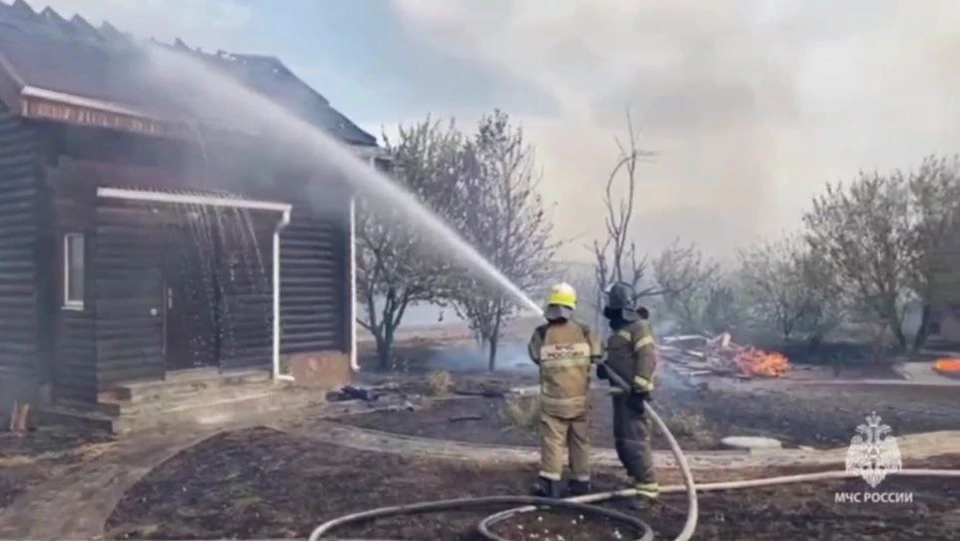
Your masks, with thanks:
M538 148L558 232L602 235L630 106L643 144L635 240L713 255L799 223L825 182L953 152L960 5L946 0L394 0L411 36L541 103L508 108ZM549 113L542 113L544 108ZM594 194L591 196L591 194ZM581 237L582 238L582 237ZM580 242L566 257L583 259Z

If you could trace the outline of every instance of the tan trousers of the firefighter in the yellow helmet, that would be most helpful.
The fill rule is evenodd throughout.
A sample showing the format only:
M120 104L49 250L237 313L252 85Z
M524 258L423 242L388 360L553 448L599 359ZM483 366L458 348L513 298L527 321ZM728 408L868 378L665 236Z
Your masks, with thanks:
M587 414L565 418L540 414L540 477L559 481L569 461L576 481L590 480L590 426Z

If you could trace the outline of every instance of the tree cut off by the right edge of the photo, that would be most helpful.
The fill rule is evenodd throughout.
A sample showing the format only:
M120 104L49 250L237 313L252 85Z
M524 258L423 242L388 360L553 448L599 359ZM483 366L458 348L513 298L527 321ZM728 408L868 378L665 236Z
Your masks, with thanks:
M913 341L913 349L918 350L926 342L935 305L950 307L960 301L960 273L956 270L960 263L956 250L960 161L929 156L906 182L913 224L909 279L923 307Z

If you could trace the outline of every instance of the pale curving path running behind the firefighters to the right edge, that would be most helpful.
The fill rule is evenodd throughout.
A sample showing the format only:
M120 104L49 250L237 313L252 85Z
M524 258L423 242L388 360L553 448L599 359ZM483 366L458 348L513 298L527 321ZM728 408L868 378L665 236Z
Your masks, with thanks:
M397 453L418 457L438 457L483 462L536 462L539 450L530 447L503 447L477 443L455 442L391 434L344 425L331 421L284 425L273 428L315 441L343 445L363 451ZM897 438L905 459L923 459L957 452L960 449L960 431L932 432ZM748 451L693 451L686 453L690 467L698 470L722 468L755 468L792 465L843 464L847 449L830 451L803 451L794 449ZM598 465L618 466L613 449L595 449ZM658 467L674 467L673 454L657 451L654 459Z

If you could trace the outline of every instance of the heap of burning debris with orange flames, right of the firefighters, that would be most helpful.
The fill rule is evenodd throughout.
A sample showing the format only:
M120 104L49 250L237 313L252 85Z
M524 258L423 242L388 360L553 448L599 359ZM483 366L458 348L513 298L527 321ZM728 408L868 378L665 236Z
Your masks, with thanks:
M688 375L778 378L790 370L790 362L784 355L736 344L729 333L713 338L699 335L667 337L664 343L662 349L665 353L679 353L670 358L690 369Z

